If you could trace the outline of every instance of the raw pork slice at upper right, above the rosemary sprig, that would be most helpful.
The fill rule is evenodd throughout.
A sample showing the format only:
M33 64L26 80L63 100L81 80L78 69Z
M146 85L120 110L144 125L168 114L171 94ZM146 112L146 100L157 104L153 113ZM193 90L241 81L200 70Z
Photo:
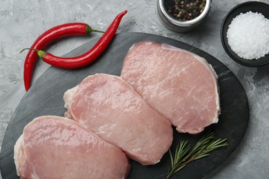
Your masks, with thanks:
M126 55L121 78L179 132L197 134L218 122L217 74L197 54L172 45L139 42Z

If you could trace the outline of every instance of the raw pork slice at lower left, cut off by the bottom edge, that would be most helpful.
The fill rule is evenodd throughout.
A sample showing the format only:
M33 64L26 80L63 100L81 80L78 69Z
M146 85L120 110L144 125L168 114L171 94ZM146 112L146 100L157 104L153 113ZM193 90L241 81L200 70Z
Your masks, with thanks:
M130 164L121 149L81 124L40 116L23 129L14 145L21 178L127 178Z

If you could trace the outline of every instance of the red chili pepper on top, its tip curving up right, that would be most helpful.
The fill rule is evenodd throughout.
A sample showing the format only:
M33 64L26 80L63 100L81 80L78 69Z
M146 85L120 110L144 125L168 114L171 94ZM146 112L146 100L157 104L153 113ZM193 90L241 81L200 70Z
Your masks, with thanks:
M59 68L65 68L65 69L74 69L83 67L85 65L88 65L106 49L108 44L110 43L111 39L113 38L114 34L117 31L117 28L119 27L119 23L121 22L121 19L124 14L127 13L127 10L121 12L117 17L114 19L114 21L111 23L111 25L108 27L108 30L101 36L99 41L94 45L92 49L90 49L85 54L82 54L80 56L75 56L71 58L63 58L59 56L54 56L53 54L50 54L48 52L37 50L33 48L26 48L28 50L36 50L37 54L43 61L46 63ZM26 50L23 49L23 50ZM23 51L22 50L22 51ZM21 51L21 52L22 52Z

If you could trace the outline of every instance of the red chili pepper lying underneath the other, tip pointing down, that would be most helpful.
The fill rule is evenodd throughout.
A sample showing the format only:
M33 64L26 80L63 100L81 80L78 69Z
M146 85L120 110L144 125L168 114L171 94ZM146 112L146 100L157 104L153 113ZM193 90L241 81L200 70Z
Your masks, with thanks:
M61 39L64 36L71 35L88 35L90 32L102 32L100 30L92 29L86 23L64 23L62 25L57 25L41 34L36 41L32 44L31 48L43 49L54 40ZM23 79L26 91L30 88L32 71L34 69L34 64L38 59L37 52L30 50L26 56L26 61L24 62Z

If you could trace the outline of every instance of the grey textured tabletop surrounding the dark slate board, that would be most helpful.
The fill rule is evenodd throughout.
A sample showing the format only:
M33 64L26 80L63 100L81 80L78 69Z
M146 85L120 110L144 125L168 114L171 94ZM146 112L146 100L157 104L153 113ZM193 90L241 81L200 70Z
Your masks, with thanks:
M244 67L232 61L221 46L219 31L226 13L243 0L213 1L208 19L195 31L179 34L167 30L157 16L156 1L146 0L74 0L74 1L1 1L0 6L0 147L8 122L25 92L22 48L48 28L66 22L81 21L92 28L106 30L115 15L128 14L118 33L146 32L193 45L224 63L239 78L250 104L250 123L236 151L206 178L269 178L269 67ZM269 0L263 0L269 3ZM61 56L83 43L99 37L71 37L48 48ZM34 81L50 65L38 61Z

